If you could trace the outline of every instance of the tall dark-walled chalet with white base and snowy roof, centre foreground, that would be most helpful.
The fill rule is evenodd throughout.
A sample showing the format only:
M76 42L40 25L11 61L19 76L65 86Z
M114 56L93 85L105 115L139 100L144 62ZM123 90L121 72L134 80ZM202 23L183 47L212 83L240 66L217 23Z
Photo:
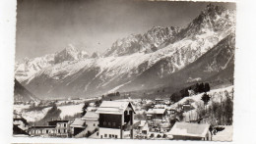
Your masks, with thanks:
M133 138L134 108L130 102L103 101L99 114L99 138Z

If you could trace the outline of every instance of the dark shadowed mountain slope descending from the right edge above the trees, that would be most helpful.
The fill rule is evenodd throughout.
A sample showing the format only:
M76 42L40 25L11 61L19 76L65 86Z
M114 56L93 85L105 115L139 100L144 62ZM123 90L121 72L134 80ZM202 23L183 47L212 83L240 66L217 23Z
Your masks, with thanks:
M234 44L235 36L233 33L227 35L214 48L202 55L194 63L187 65L180 71L172 74L165 74L162 67L168 66L171 62L162 59L151 69L144 72L126 86L128 89L139 90L145 88L156 88L161 86L178 87L190 83L189 79L200 79L199 81L227 81L232 84L234 68ZM171 66L171 65L170 65ZM163 70L167 70L163 68ZM161 78L159 75L164 75ZM148 78L151 77L151 78ZM166 80L167 79L167 80ZM197 81L193 81L197 82ZM126 89L126 87L122 87ZM121 90L121 89L120 89Z

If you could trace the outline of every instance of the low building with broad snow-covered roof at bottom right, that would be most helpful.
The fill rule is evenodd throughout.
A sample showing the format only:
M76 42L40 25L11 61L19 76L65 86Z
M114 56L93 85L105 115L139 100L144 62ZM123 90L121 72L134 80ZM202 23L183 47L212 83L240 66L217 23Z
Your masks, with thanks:
M212 140L210 124L175 122L168 135L179 140Z

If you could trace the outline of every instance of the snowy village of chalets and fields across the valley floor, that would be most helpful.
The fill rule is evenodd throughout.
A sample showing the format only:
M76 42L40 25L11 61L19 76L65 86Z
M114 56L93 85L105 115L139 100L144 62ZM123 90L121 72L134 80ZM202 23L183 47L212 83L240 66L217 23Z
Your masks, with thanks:
M119 95L87 102L77 100L77 104L85 103L82 113L78 112L81 115L48 119L46 124L31 124L22 114L14 112L14 136L210 141L224 137L228 140L232 126L225 117L216 117L215 106L219 102L224 106L220 109L225 109L224 102L232 99L232 89L229 86L197 94L189 91L189 96L175 103L170 99L124 99ZM57 110L60 105L63 104L58 102L53 107Z

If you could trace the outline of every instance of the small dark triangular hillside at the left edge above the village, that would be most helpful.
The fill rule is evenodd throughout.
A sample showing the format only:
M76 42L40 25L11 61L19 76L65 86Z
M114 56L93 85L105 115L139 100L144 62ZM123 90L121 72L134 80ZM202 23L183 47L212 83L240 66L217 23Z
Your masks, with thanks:
M37 101L37 100L38 98L36 98L18 80L15 79L14 102L29 102L29 101Z

